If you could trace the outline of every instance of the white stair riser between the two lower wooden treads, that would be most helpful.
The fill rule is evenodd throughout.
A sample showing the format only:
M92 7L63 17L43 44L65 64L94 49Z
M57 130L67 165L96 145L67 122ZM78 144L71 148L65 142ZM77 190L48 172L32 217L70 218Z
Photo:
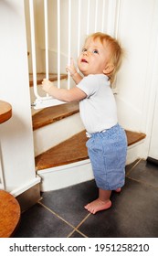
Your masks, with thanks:
M67 140L76 133L84 130L79 113L61 119L56 123L48 124L34 131L35 155Z

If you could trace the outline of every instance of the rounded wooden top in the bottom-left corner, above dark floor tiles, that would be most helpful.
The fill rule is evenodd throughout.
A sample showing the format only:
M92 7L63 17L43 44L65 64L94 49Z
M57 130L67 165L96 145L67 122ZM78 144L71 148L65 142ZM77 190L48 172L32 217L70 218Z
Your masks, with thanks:
M20 219L20 206L15 197L0 190L0 238L9 238Z

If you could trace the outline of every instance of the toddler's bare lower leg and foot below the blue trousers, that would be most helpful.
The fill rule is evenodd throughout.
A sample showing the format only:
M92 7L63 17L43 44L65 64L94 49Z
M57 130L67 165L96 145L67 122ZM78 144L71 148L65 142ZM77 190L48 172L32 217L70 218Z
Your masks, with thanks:
M111 190L99 189L99 197L85 206L90 213L95 214L97 211L111 208Z

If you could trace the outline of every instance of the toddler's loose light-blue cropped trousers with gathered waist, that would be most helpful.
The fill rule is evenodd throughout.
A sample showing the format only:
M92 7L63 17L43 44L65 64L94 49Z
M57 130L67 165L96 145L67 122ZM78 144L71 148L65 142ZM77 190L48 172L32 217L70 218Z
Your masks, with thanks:
M88 153L97 187L115 190L125 182L126 133L119 124L102 133L90 133Z

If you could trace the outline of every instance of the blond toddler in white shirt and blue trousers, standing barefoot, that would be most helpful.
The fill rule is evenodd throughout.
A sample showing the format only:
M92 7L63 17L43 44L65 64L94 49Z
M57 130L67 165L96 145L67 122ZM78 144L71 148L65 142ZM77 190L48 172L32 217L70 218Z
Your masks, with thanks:
M103 33L87 37L78 59L82 77L71 59L66 68L77 86L58 89L43 80L43 90L60 101L79 101L82 122L87 130L88 153L99 197L85 208L90 213L111 208L111 191L121 191L125 181L127 139L117 119L111 81L121 65L118 41Z

